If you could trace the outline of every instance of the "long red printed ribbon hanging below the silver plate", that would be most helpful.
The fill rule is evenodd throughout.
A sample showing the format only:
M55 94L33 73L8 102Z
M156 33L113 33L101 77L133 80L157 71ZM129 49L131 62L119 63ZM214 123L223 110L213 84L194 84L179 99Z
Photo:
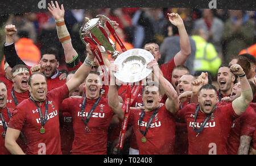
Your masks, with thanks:
M122 109L124 111L123 115L123 122L122 122L122 128L119 134L119 140L117 147L122 150L123 148L123 142L125 140L125 132L127 128L127 124L129 122L129 114L130 114L130 106L132 105L134 99L138 96L139 89L141 88L141 85L134 85L131 87L131 85L127 85L126 88L126 94L125 94L125 102L123 102Z

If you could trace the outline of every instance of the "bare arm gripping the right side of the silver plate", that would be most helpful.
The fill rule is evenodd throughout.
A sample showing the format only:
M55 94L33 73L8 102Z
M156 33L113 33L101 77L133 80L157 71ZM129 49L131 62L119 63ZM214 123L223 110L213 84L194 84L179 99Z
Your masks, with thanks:
M163 77L162 74L159 73L159 66L156 59L152 60L150 63L147 64L148 67L152 67L152 72L154 73L155 80L158 78L159 80L159 88L160 91L164 92L168 97L166 100L166 109L170 111L172 114L176 114L179 110L179 97L177 96L177 92L172 86L172 84Z

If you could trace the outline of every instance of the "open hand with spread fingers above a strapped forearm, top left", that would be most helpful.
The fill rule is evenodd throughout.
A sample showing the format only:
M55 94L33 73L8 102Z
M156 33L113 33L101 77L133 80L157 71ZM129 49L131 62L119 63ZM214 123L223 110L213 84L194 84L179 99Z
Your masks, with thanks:
M52 16L55 18L55 20L64 20L64 7L63 4L61 4L61 8L59 7L59 4L57 1L55 1L56 6L54 3L51 1L51 4L48 3L47 9L49 12L52 14Z

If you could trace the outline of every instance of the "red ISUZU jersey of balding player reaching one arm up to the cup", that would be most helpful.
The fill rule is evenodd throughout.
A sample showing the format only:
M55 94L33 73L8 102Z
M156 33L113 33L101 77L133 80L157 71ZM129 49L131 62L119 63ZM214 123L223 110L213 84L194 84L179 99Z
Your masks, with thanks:
M35 103L28 98L16 106L8 127L23 130L27 139L27 154L61 154L59 108L61 101L67 98L68 94L69 90L66 84L47 93L48 121L44 125L46 130L44 134L40 133L42 125ZM43 116L45 115L45 107L46 102L44 101L40 106Z

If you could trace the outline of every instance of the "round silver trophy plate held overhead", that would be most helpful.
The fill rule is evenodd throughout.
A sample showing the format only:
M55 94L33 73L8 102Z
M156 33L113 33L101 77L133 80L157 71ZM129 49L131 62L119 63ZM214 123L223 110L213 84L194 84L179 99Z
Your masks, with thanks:
M152 69L147 68L147 63L153 59L154 56L145 49L129 49L115 59L118 72L114 76L122 82L141 81L152 72Z

